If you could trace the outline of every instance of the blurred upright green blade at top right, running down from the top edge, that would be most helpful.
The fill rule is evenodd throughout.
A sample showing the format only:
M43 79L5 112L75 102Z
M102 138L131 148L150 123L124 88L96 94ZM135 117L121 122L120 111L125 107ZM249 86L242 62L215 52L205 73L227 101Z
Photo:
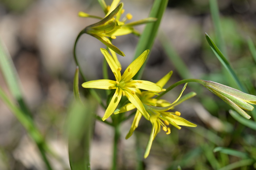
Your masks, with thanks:
M225 45L225 41L221 31L221 21L219 18L218 2L217 0L210 0L209 2L210 2L211 17L214 25L215 34L216 34L217 45L220 48L220 50L223 52L223 54L227 56L226 55L227 52L225 48L226 45Z

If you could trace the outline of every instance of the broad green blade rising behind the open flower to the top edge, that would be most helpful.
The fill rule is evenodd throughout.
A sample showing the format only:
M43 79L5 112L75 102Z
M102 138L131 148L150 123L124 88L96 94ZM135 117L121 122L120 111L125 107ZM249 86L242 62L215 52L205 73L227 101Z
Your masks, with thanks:
M163 13L165 12L165 9L167 7L168 0L155 0L153 7L151 9L149 17L157 18L157 21L154 23L148 23L140 36L139 42L136 47L136 52L134 55L134 60L143 53L145 50L151 50L155 37L157 35L158 27L161 23ZM148 60L148 57L147 57ZM144 67L146 66L146 62L143 64L143 66L140 68L138 73L133 77L135 80L138 80L141 78Z

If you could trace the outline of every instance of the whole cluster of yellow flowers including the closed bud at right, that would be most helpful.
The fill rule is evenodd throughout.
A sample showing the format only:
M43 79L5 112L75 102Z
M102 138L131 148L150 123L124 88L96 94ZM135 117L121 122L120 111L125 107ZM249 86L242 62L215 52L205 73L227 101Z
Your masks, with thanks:
M82 87L115 90L113 91L114 93L112 93L113 96L110 96L112 98L102 118L103 121L108 119L112 114L120 114L133 109L137 109L131 125L131 129L126 136L126 139L131 137L134 130L138 127L139 121L142 116L146 120L151 122L152 130L150 134L150 139L146 147L144 158L148 157L152 142L156 135L159 133L160 129L165 131L166 134L170 134L171 129L169 125L172 125L177 129L181 129L180 126L196 127L196 124L181 118L180 112L169 112L169 110L174 109L174 106L196 95L195 92L191 92L181 97L188 82L197 82L202 84L212 93L219 96L222 100L228 103L245 118L249 119L251 117L242 109L250 111L253 110L253 106L248 103L256 104L256 96L245 94L241 91L224 86L219 83L199 79L186 79L174 83L166 90L163 87L172 76L172 71L163 76L163 78L160 79L157 83L149 82L146 80L133 80L133 77L137 74L137 72L146 61L149 50L144 51L140 56L138 56L138 58L136 58L131 64L129 64L123 74L121 74L122 67L117 59L116 53L121 56L125 55L121 50L119 50L111 43L111 40L116 39L116 36L127 35L129 33L139 35L138 31L136 31L133 26L153 22L156 19L146 18L143 20L126 23L127 20L132 19L132 15L130 13L127 13L127 15L123 19L120 19L121 15L124 13L124 9L122 3L118 5L119 2L120 0L113 0L112 4L110 6L107 6L104 0L99 0L102 9L105 12L105 17L103 18L89 15L84 12L79 12L79 16L81 17L93 17L100 19L100 21L98 21L97 23L84 28L80 32L79 36L83 33L87 33L91 36L96 37L108 47L111 55L107 50L103 48L101 48L100 50L105 57L107 63L109 64L109 67L115 77L115 80L100 79L84 82L82 84ZM167 91L172 90L172 88L182 83L185 83L185 86L183 87L174 102L171 103L167 100L160 99L160 97L164 95ZM123 96L128 99L126 100L127 102L121 100ZM158 97L155 98L155 96Z

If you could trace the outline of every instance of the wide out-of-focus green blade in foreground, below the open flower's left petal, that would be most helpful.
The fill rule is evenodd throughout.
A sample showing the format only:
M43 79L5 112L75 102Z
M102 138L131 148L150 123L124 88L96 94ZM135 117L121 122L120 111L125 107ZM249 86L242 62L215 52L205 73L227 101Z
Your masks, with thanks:
M73 102L67 119L69 165L72 170L90 170L90 143L95 102Z

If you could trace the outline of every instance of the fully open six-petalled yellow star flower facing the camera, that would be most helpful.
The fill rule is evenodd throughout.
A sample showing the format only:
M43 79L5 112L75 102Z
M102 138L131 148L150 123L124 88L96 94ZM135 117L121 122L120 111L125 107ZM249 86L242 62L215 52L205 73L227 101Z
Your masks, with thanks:
M149 50L144 51L137 59L135 59L124 71L121 76L121 67L118 67L112 56L105 49L101 48L102 54L105 56L116 80L93 80L85 82L82 84L84 88L99 88L99 89L116 89L116 92L111 99L108 108L106 109L105 115L102 120L107 119L114 110L116 109L118 103L120 102L122 94L127 97L127 99L145 116L146 111L143 107L142 102L135 94L135 89L140 88L143 90L161 91L162 88L157 86L157 84L142 81L142 80L132 80L133 76L139 71L145 62Z

